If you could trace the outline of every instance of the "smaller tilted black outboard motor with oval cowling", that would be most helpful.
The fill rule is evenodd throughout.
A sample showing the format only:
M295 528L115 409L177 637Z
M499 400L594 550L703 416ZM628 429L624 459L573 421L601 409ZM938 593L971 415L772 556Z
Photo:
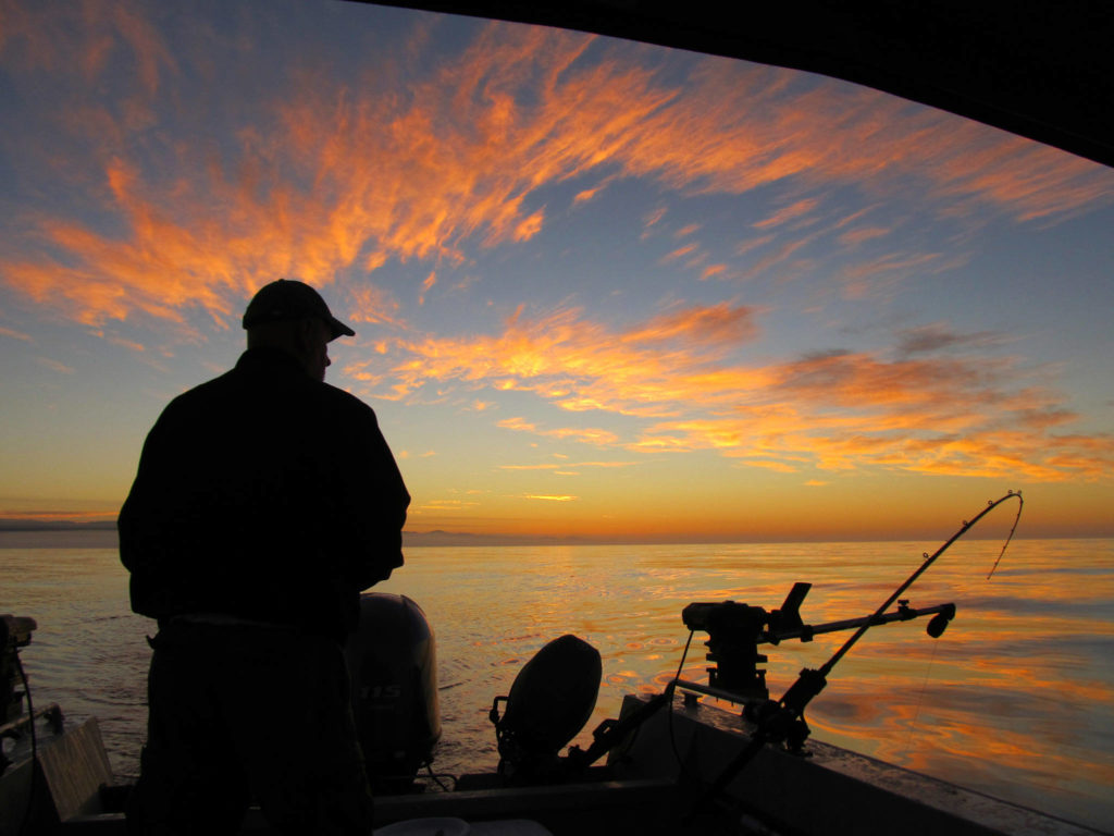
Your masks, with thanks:
M491 704L499 772L516 782L554 780L565 765L558 751L584 728L596 707L599 651L575 635L554 639L518 672L509 697ZM499 702L507 709L499 717Z

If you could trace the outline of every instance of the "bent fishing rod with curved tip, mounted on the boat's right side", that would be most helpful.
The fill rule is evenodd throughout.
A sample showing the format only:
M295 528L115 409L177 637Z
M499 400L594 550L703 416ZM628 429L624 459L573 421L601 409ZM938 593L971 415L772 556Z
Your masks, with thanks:
M994 566L990 567L990 573L987 575L987 579L989 579L998 567L998 563L1001 561L1001 556L1006 553L1006 547L1009 545L1009 542L1014 538L1014 532L1017 531L1017 523L1022 518L1022 508L1025 505L1025 500L1022 498L1020 490L1010 490L1005 496L988 502L987 506L978 514L970 519L965 519L964 524L959 527L959 531L952 534L951 537L949 537L942 546L936 550L931 556L929 556L926 552L924 555L925 562L917 567L917 571L909 575L909 577L906 579L906 581L898 586L888 599L886 599L872 616L863 621L859 629L851 634L851 638L843 642L843 645L832 654L831 659L815 670L811 668L802 670L797 681L790 686L789 690L785 691L784 696L778 702L771 701L764 707L764 710L760 709L758 716L758 728L751 735L750 741L694 805L693 814L695 814L695 811L702 806L714 800L720 793L723 791L727 784L730 784L735 776L737 776L739 772L741 772L746 765L754 759L754 757L766 743L781 742L786 739L786 737L794 735L797 739L803 740L804 736L808 735L808 727L804 726L803 718L804 709L812 698L820 693L824 686L828 684L828 674L831 673L832 668L834 668L836 664L844 655L847 655L847 652L851 650L859 639L862 638L863 633L873 626L876 620L881 619L882 614L890 606L890 604L897 601L898 597L906 590L908 590L918 577L925 574L928 567L931 566L941 554L948 551L952 543L962 537L983 517L1009 499L1017 499L1017 516L1014 517L1014 525L1009 529L1009 535L1006 537L1006 542L1003 544L1001 551L998 553L998 558L994 562ZM801 727L804 727L803 732Z

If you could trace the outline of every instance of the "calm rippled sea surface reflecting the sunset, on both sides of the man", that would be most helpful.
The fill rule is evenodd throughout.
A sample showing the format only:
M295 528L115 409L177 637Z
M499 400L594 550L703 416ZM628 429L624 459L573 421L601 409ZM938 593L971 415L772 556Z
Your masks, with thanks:
M946 538L941 537L941 541ZM104 536L104 535L101 535ZM101 722L119 778L137 772L154 624L128 609L113 547L0 534L0 612L39 623L22 651L36 702ZM596 717L629 691L659 691L681 662L682 609L735 600L773 609L795 581L807 623L871 613L937 543L499 546L407 550L377 587L426 611L438 642L443 737L434 767L494 768L487 719L520 667L575 633L604 660ZM939 640L925 621L870 630L807 716L814 737L973 789L1114 832L1114 541L964 539L907 593L955 602ZM783 642L768 681L781 696L849 633ZM685 677L705 679L700 643ZM292 671L292 682L296 671ZM292 738L296 745L296 738Z

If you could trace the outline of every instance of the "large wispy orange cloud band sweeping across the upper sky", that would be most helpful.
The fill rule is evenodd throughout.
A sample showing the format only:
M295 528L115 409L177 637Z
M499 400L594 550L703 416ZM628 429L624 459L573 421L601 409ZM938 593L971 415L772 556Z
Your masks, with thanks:
M197 98L212 56L173 54L127 6L105 16L13 9L2 56L65 82L75 107L58 121L57 158L84 163L55 174L99 201L107 222L23 217L35 234L9 250L0 275L87 324L143 317L194 333L189 314L225 325L278 275L326 285L391 257L460 264L468 245L541 234L531 196L605 166L684 193L788 178L885 193L912 179L927 204L1023 221L1114 195L1114 176L1097 166L898 99L716 58L690 59L682 87L659 52L573 32L491 23L453 60L408 76L407 96L392 64L404 49L344 80L294 62L273 98L255 104L254 90L246 109L235 82ZM131 74L109 75L120 58ZM111 101L94 95L105 85ZM198 109L174 113L165 103L175 100ZM183 132L193 139L176 138Z

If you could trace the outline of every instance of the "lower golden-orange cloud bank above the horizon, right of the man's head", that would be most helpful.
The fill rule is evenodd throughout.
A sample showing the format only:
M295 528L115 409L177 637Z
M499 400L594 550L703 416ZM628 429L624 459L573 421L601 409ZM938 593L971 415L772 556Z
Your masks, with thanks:
M781 472L881 467L1063 482L1106 478L1114 466L1114 437L1063 432L1075 416L1055 391L1010 360L985 357L993 334L937 324L900 332L891 358L837 351L762 367L732 361L755 334L752 312L727 305L673 311L619 332L576 310L532 321L518 311L496 337L407 343L411 359L393 375L413 396L450 381L641 421L635 437L546 429L520 417L499 421L506 429L638 453L714 450Z

